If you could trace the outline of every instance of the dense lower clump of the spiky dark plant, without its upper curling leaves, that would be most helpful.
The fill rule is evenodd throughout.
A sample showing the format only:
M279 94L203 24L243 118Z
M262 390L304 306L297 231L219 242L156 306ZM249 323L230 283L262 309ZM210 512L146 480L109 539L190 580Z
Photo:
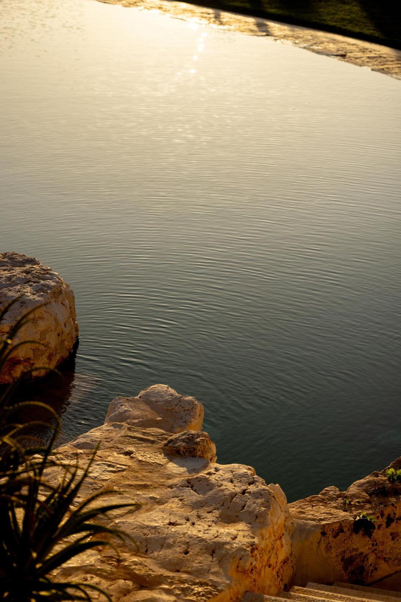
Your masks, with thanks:
M88 590L101 589L83 583L57 583L49 574L67 560L85 550L108 545L116 549L109 538L123 541L124 533L92 520L110 510L136 506L114 503L94 506L110 491L100 491L86 498L73 510L80 488L88 476L95 452L83 471L56 460L49 467L46 453L38 462L26 468L26 485L14 501L0 504L2 538L0 545L0 597L12 602L47 600L91 600ZM56 468L53 474L52 468ZM44 471L48 474L45 476ZM62 471L62 474L60 474ZM81 473L81 474L79 474ZM53 480L54 479L54 480ZM101 539L99 539L101 537Z

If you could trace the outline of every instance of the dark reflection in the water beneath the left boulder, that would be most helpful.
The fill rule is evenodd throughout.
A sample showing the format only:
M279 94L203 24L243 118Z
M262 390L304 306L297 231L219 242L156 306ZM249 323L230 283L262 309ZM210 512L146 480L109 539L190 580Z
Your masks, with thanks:
M58 373L50 373L42 379L26 382L17 390L16 399L19 402L46 403L61 418L71 403L78 402L80 398L94 388L98 379L91 376L75 373L76 354L78 342L75 344L70 356L58 366ZM49 441L52 436L52 427L56 427L57 419L46 408L31 406L20 411L17 419L22 424L32 423L29 435L38 438L41 444ZM58 438L61 436L59 435Z

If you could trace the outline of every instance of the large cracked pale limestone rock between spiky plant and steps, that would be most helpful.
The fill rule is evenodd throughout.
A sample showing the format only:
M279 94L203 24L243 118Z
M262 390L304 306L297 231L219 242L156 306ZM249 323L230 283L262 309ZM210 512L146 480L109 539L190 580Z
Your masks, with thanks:
M202 404L166 385L112 401L103 426L59 448L85 464L100 445L82 497L137 501L107 518L135 543L68 561L57 579L92 583L113 602L234 602L246 591L276 593L294 571L293 524L278 485L255 470L219 465L202 427ZM178 434L177 434L178 433Z

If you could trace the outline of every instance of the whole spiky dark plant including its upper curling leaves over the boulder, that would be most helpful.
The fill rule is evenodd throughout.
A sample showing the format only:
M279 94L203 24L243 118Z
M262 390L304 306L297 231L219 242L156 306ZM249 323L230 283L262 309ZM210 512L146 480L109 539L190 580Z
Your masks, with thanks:
M0 311L0 320L16 300ZM17 347L37 344L37 341L13 343L20 328L31 319L32 311L35 310L17 320L7 338L0 340L0 371ZM83 468L78 462L65 462L52 453L59 419L44 403L16 402L16 389L23 376L7 386L0 396L0 598L7 602L90 602L91 594L96 592L111 602L109 595L97 586L57 582L52 572L94 547L107 545L118 554L113 539L124 541L127 535L92 521L111 510L139 504L101 505L101 497L110 494L103 489L71 509L97 449ZM35 426L45 424L52 428L52 437L44 446L29 433L32 422L23 424L20 420L23 410L32 405L46 409L52 422L56 422L56 427L43 421L34 422Z

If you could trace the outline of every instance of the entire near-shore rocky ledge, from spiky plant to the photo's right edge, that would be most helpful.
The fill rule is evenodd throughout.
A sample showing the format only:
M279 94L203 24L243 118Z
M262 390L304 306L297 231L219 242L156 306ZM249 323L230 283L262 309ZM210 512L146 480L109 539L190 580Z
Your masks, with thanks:
M154 385L116 397L103 426L58 449L84 466L98 446L82 498L104 489L104 503L141 505L106 519L133 538L119 562L94 548L57 579L100 586L113 602L234 602L247 592L369 585L400 573L401 485L386 469L287 504L253 468L216 463L203 417L194 397Z

